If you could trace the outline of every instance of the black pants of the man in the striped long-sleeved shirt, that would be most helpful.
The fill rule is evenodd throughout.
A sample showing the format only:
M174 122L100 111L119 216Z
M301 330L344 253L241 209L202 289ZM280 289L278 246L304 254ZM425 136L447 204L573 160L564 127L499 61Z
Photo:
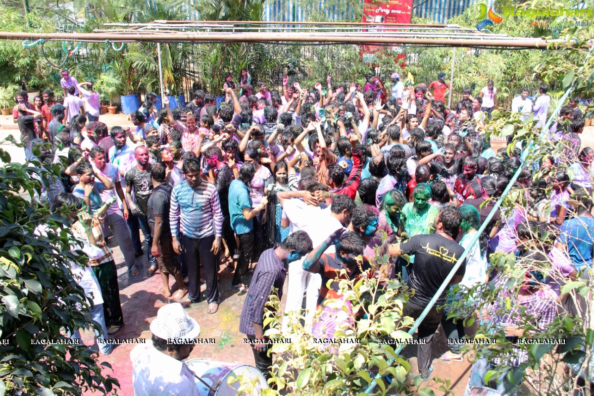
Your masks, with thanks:
M208 303L219 303L219 274L217 273L219 255L215 256L210 251L213 241L214 235L204 238L191 238L185 235L179 237L182 255L188 267L188 294L192 302L200 301L200 265L202 265L204 277L206 277L206 300Z

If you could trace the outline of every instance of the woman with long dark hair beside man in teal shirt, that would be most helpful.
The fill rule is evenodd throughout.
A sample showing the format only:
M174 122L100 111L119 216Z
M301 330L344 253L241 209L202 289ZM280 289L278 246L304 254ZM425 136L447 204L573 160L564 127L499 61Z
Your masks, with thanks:
M289 229L280 225L282 220L283 207L277 198L281 191L287 191L288 166L285 161L279 161L274 164L273 174L266 180L265 194L268 197L267 205L267 224L268 236L266 246L275 246L283 243L283 240L289 236Z

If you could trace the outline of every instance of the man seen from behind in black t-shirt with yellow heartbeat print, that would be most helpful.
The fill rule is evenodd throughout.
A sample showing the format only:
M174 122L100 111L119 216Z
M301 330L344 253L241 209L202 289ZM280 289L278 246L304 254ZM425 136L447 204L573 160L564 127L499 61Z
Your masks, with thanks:
M407 286L414 289L415 294L410 297L405 306L402 312L403 316L416 319L421 315L462 256L464 248L454 240L460 224L462 224L460 210L445 206L435 220L434 234L417 235L407 242L390 245L389 251L392 256L415 255L415 264L412 265L407 281ZM456 274L451 278L449 284L460 283L465 271L466 259L456 270ZM423 338L426 341L425 345L419 345L417 353L419 373L423 381L428 381L433 369L431 365L432 340L443 316L443 312L437 312L437 307L444 304L446 292L447 287L419 325L419 339Z

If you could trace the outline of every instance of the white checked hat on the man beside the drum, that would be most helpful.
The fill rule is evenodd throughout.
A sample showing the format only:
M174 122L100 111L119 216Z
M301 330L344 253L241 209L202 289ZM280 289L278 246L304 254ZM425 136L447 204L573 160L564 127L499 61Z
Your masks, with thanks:
M190 318L180 303L171 303L159 308L157 318L150 324L150 331L159 338L187 338L194 340L200 335L200 325Z

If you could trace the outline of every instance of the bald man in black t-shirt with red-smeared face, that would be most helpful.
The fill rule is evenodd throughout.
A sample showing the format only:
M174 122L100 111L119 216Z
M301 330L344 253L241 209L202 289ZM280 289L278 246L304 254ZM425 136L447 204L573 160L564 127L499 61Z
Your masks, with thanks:
M147 243L147 258L149 258L150 268L147 275L151 276L157 270L157 261L151 254L153 238L150 233L149 219L147 218L147 204L149 197L153 192L153 181L150 176L149 150L140 145L134 150L136 166L126 172L126 201L130 214L128 216L128 227L132 232L129 223L137 221L138 226L143 231L144 240ZM132 198L132 187L134 187L134 198ZM138 230L138 226L135 228Z

